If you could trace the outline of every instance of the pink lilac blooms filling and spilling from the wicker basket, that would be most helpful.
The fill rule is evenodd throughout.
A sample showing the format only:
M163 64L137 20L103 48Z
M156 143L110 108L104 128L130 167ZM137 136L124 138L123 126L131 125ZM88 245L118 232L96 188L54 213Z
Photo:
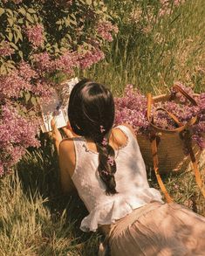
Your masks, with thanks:
M178 83L179 84L179 83ZM181 85L181 83L180 83ZM178 100L157 102L152 107L154 114L154 124L159 128L174 129L176 123L167 115L166 112L157 110L159 107L165 108L174 114L181 124L186 124L191 118L197 116L195 125L191 127L192 139L201 149L205 149L205 93L195 95L190 87L181 87L192 97L195 97L197 106L193 106L180 93L175 93ZM186 103L186 104L185 104ZM116 118L115 123L126 122L133 126L136 134L147 134L149 132L149 122L147 120L147 99L133 86L126 86L126 93L122 98L115 99Z

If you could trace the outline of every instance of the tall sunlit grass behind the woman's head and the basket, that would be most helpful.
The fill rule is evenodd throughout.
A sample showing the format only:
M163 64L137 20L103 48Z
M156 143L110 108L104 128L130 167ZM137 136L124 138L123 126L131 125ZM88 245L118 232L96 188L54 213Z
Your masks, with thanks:
M203 0L188 0L164 17L157 14L157 1L107 2L120 31L106 60L86 75L120 94L127 83L142 92L167 92L176 80L204 90Z

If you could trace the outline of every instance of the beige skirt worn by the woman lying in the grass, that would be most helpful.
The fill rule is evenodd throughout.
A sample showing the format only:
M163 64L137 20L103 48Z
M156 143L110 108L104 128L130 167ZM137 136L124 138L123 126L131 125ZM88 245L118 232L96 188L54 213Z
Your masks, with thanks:
M205 218L180 204L154 202L112 226L112 256L204 256Z

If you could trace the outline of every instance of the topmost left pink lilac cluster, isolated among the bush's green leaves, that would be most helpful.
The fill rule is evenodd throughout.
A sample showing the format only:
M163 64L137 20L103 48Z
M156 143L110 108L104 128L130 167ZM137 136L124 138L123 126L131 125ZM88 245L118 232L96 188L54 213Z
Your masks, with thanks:
M42 24L35 24L25 28L25 34L34 47L44 44L44 27Z

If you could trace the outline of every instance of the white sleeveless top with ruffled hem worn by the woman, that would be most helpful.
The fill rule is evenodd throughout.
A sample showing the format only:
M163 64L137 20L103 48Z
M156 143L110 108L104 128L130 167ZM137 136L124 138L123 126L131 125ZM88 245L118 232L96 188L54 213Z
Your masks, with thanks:
M162 202L160 192L150 188L147 183L145 163L132 132L126 126L117 128L124 132L127 142L115 151L115 181L118 193L112 196L106 196L106 185L99 177L99 153L87 149L83 137L74 138L76 167L72 181L89 211L89 215L80 225L84 232L94 232L99 225L112 224L133 209L151 201Z

